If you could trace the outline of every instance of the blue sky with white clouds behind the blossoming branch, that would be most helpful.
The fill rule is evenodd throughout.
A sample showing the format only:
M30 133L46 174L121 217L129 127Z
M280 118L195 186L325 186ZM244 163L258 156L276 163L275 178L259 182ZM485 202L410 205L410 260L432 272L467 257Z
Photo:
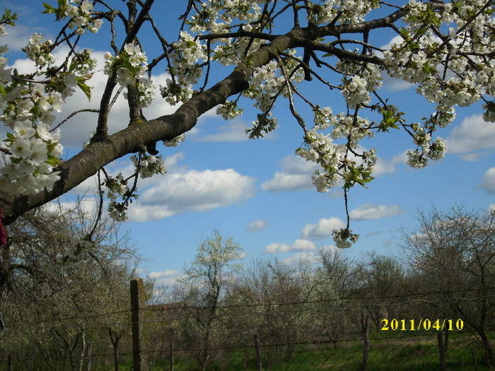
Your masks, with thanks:
M182 4L180 1L175 4L179 3ZM27 44L33 32L54 37L59 26L52 23L53 17L39 15L41 1L21 4L11 6L10 1L0 1L0 6L9 6L21 16L19 25L6 38L12 51ZM168 9L168 30L173 33L164 32L172 41L176 39L177 28L171 25L177 22L182 5ZM103 33L100 30L98 35L88 35L82 44L93 49L102 63L100 66L104 52L110 49L99 40ZM380 37L383 40L376 41L378 46L387 45L392 35ZM153 57L153 49L146 49L146 53L150 59ZM63 51L59 57L62 54ZM9 62L19 69L30 67L30 62L20 53L12 53ZM231 68L215 69L210 81L223 78L230 71ZM165 78L162 69L153 81L158 87ZM103 84L103 73L96 73L90 84L94 86L95 98ZM339 93L332 95L320 90L314 81L306 84L301 90L308 96L326 102L334 113L344 110ZM408 122L418 121L433 110L432 105L415 93L414 86L400 81L385 77L381 94L406 112L404 117ZM63 119L76 108L95 107L96 101L87 102L77 93L69 98L58 117ZM301 258L314 261L321 247L335 249L331 232L345 223L343 192L336 188L319 194L311 184L315 167L294 155L303 142L302 131L291 117L287 102L280 100L276 105L278 129L257 141L244 134L257 112L250 101L241 102L245 107L242 117L226 122L214 112L208 112L180 146L159 146L168 173L139 184L139 199L131 206L129 220L123 225L125 230L132 231L134 244L147 259L140 266L142 274L159 282L172 281L184 262L194 258L197 243L215 229L233 236L243 246L246 259L276 257L293 265ZM110 116L111 130L126 126L125 106L123 100L115 105ZM156 98L144 113L147 118L153 118L174 110L175 107ZM356 186L349 194L351 228L361 237L356 245L341 253L360 258L374 250L395 256L400 242L398 229L413 228L415 213L420 208L428 210L434 205L447 209L455 204L483 210L495 208L495 124L483 122L481 114L479 104L458 108L453 124L437 133L447 143L447 155L422 170L406 164L405 151L414 147L404 131L364 141L363 146L374 146L379 157L376 179L368 189ZM94 129L94 122L95 114L80 114L64 125L62 144L66 155L73 155L81 148ZM130 165L124 158L108 169L112 173L125 172ZM61 201L74 201L77 192L83 194L93 184L94 179L88 179ZM88 199L86 207L93 210L94 201Z

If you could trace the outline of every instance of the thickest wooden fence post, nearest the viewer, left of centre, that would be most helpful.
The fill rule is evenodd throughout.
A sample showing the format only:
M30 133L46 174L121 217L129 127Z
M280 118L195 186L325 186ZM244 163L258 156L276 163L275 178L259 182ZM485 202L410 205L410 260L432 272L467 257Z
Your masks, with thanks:
M143 352L143 321L145 295L143 278L131 280L132 365L134 371L144 371L146 360Z

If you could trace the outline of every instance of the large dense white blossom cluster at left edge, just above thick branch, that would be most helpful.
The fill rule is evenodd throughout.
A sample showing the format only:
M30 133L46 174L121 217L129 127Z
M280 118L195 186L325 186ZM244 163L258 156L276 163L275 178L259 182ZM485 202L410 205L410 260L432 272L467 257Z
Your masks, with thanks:
M52 111L61 110L62 94L47 94L37 83L6 86L6 90L0 119L14 134L8 133L5 140L10 153L8 163L0 168L0 188L12 194L33 194L44 188L50 191L59 179L53 167L62 155L59 131L50 132L50 124L54 121Z

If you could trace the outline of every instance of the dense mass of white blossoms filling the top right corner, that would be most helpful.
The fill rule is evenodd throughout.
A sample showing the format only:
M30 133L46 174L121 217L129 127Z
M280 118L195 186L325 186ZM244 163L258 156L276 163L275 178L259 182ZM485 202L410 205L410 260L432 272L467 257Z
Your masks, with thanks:
M448 3L443 11L435 11L432 4L410 0L403 40L384 52L385 69L391 76L418 83L417 92L438 104L438 126L450 124L455 105L471 105L482 95L495 93L495 61L484 57L493 51L495 41L493 33L484 30L493 28L495 20L489 8L472 17L485 3ZM439 27L441 23L450 25L443 38L429 31L430 24Z

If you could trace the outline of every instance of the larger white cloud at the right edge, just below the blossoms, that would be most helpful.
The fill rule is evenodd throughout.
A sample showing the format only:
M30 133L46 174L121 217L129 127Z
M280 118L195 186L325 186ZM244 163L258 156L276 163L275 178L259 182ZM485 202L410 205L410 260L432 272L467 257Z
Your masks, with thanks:
M462 120L459 126L453 128L448 138L445 138L447 151L450 153L475 152L474 157L465 160L476 160L482 149L495 150L495 124L485 122L482 114L473 114Z

